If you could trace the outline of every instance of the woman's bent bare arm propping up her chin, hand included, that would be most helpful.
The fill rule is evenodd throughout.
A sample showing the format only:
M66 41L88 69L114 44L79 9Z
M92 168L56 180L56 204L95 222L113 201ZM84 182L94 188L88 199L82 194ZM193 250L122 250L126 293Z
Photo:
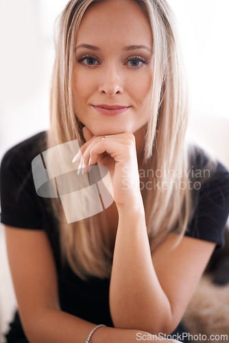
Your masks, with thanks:
M110 314L115 327L171 333L204 272L214 243L184 237L171 250L174 235L153 256L139 187L134 135L130 132L95 137L84 128L81 165L97 163L110 171L119 224L110 280Z

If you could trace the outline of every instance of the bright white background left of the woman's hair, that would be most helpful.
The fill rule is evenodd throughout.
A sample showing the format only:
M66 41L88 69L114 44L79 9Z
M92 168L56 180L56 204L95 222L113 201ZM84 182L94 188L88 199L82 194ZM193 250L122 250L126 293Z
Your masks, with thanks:
M49 126L53 23L65 3L0 0L0 158Z

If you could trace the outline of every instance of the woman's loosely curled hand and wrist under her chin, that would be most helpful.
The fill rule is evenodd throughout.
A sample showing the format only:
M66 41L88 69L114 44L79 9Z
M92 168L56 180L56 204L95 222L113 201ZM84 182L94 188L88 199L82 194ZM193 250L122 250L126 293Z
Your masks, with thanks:
M83 134L86 143L73 161L80 161L79 168L87 171L88 165L95 163L108 168L117 207L130 206L133 202L142 204L134 134L110 134L101 139L86 127Z

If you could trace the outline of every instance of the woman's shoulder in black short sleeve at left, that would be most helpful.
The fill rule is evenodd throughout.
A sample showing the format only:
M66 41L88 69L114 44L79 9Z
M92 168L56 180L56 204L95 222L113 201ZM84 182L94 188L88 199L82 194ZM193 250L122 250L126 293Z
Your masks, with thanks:
M40 228L43 203L36 194L32 160L43 150L45 132L14 145L1 161L1 222L21 228Z

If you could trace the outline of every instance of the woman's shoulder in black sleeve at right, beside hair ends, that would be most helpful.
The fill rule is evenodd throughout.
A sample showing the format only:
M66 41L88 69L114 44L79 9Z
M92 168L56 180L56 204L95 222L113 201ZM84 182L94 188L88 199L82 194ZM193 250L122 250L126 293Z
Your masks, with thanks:
M224 245L224 228L229 213L229 171L200 147L189 155L192 171L193 214L186 235Z

